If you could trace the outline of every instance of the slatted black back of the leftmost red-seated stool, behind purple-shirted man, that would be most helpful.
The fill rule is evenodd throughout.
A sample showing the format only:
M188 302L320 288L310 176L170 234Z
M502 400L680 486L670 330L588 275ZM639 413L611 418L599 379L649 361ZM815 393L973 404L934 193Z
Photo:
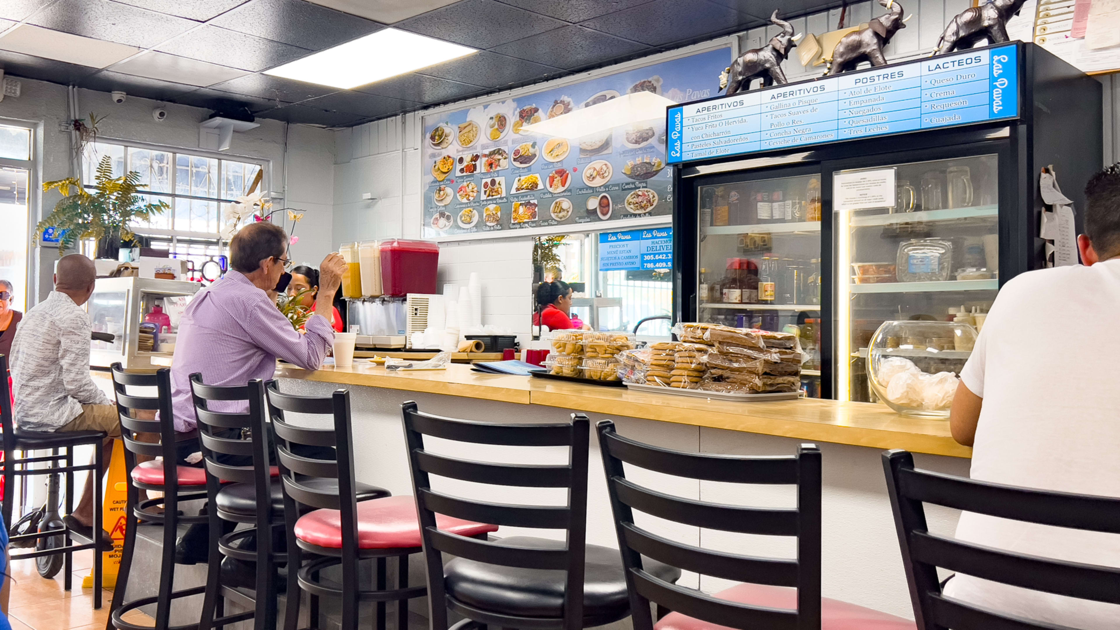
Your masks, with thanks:
M161 368L155 372L125 372L120 363L111 367L113 392L116 396L116 414L121 418L121 439L124 442L124 462L129 473L136 466L137 455L164 458L164 488L168 495L178 491L176 439L193 437L193 434L175 433L175 416L171 411L171 370ZM141 396L134 387L155 388L156 396ZM158 411L159 419L141 419L137 411ZM143 414L148 415L148 414ZM159 436L157 442L142 442L136 434ZM174 498L166 504L171 509Z

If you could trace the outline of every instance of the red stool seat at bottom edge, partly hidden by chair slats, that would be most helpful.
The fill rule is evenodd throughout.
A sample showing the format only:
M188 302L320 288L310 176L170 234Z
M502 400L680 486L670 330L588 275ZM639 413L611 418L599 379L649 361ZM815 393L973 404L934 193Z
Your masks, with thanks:
M739 584L712 595L740 604L794 610L797 590L764 584ZM821 597L821 630L916 630L908 620L869 608ZM671 612L654 626L654 630L726 630L726 627Z

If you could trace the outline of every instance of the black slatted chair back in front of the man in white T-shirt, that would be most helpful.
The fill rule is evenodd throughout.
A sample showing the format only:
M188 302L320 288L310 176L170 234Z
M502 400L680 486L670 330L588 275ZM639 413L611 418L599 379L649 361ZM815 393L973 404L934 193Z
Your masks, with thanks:
M1054 527L1120 534L1120 499L972 481L914 469L906 451L883 454L903 566L922 630L1055 630L1011 613L942 594L937 567L981 580L1082 600L1120 604L1120 568L1047 559L933 534L924 503Z

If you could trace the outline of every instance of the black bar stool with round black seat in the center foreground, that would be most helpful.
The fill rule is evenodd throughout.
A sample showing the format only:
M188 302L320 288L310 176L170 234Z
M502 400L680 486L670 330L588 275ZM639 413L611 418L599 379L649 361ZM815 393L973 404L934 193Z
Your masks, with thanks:
M447 630L447 610L467 618L461 626L494 624L521 630L580 630L631 614L618 552L587 545L587 457L589 423L573 414L570 424L486 424L444 418L402 406L409 464L428 563L428 605L432 630ZM505 446L566 446L566 464L498 464L438 455L424 437ZM522 488L563 488L566 506L484 502L432 490L430 475ZM500 526L562 529L566 540L511 536L473 539L449 529L439 515ZM442 554L457 556L444 566ZM675 582L681 572L661 563L648 569ZM459 628L457 624L456 628Z

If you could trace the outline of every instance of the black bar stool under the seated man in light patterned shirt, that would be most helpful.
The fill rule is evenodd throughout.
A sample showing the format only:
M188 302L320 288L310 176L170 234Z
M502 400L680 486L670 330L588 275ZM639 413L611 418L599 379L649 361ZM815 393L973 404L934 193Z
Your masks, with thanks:
M47 556L62 555L63 560L63 589L69 591L73 586L74 552L93 549L93 608L101 608L101 577L102 577L102 546L101 546L101 484L104 474L101 445L104 442L103 430L71 430L62 433L18 430L15 428L11 415L11 393L8 390L8 358L0 354L0 427L3 429L3 525L11 531L11 509L15 500L16 481L21 476L46 476L62 474L66 478L66 513L74 508L74 473L78 471L90 471L93 474L93 540L85 536L71 531L62 521L44 522L40 530L22 536L12 536L10 543L20 540L35 540L36 550L24 554L12 554L11 559L29 559ZM74 465L75 446L94 446L93 462L85 465ZM16 457L19 451L21 456ZM28 451L50 451L50 455L22 456ZM62 453L59 453L62 451ZM58 465L59 462L63 465ZM28 464L47 463L49 467L34 469ZM55 483L55 482L52 482ZM57 506L52 506L55 508ZM62 537L63 546L53 547ZM72 539L85 541L81 545L73 545ZM110 550L110 549L104 549ZM57 571L57 566L55 567Z

